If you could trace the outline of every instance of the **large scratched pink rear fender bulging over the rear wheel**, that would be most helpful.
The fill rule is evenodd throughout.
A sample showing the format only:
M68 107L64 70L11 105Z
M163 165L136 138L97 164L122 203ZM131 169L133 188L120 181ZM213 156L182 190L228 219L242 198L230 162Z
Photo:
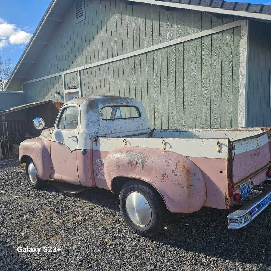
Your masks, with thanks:
M172 213L192 213L204 205L204 176L196 164L181 154L163 149L125 146L107 155L104 168L111 191L112 180L126 176L154 186Z

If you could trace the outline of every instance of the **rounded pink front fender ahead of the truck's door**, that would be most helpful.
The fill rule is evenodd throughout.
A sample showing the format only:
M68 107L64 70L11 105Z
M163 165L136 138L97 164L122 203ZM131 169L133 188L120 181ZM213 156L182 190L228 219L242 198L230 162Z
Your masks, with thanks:
M52 167L50 157L51 141L35 137L24 140L19 147L19 160L29 156L33 160L40 179L51 179Z

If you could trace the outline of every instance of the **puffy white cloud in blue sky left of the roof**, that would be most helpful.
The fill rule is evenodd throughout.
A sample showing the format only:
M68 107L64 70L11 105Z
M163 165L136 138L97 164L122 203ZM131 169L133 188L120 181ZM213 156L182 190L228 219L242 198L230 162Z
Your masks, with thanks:
M27 44L32 34L20 29L15 24L0 18L0 50L9 45Z

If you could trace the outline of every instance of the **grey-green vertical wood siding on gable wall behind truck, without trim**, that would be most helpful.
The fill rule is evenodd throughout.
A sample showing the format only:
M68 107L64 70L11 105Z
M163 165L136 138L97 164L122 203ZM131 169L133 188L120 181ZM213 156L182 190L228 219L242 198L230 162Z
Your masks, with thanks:
M229 16L216 19L199 11L165 11L143 3L130 6L114 0L88 0L85 6L86 20L77 24L70 8L27 80L237 20ZM82 95L136 98L157 129L237 127L239 51L240 26L81 70ZM60 79L55 80L57 86L53 85L49 93L48 82L52 80L24 85L26 92L30 89L27 99L38 98L31 90L37 86L41 99L54 96L56 88L62 93ZM41 84L47 88L42 89Z

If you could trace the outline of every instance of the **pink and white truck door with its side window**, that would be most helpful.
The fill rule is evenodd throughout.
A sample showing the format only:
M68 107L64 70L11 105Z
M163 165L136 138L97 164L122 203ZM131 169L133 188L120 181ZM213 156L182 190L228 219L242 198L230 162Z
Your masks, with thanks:
M77 172L77 142L80 107L68 104L59 112L51 139L52 179L80 185Z

